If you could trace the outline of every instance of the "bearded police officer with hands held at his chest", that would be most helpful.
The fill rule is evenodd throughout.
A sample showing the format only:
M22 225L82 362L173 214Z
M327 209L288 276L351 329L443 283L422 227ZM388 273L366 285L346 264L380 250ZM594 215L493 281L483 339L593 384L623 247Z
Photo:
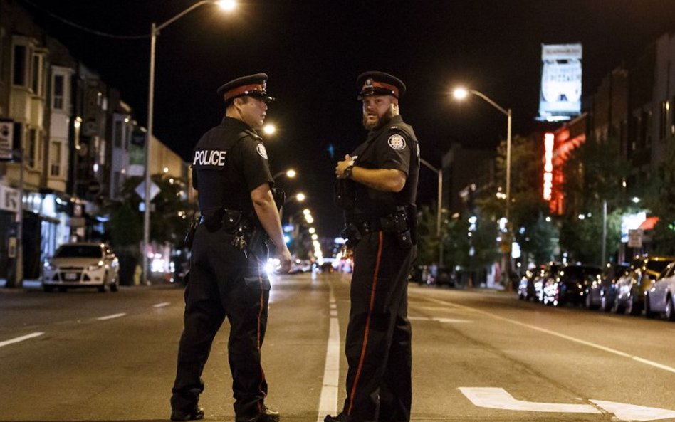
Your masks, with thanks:
M347 399L325 422L408 422L407 279L417 257L419 146L399 115L404 83L382 72L362 73L357 83L368 136L335 168L336 203L345 209L344 236L354 250Z

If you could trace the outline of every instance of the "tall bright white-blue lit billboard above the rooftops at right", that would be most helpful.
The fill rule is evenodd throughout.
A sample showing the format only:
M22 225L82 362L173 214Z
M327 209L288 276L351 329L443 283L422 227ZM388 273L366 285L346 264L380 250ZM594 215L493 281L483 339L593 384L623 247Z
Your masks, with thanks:
M560 122L581 113L581 44L541 45L538 120Z

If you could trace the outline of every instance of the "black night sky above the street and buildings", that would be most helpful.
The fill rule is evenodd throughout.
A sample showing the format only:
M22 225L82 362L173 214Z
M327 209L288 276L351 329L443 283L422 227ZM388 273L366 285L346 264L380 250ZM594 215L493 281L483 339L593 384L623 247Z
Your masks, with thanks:
M96 36L44 11L95 31L133 36L149 35L152 21L163 23L196 3L21 2L73 56L122 92L142 125L150 38ZM475 96L453 102L454 85L511 107L513 133L529 134L538 129L541 43L583 44L583 93L590 95L610 70L632 63L667 31L675 31L675 0L247 0L230 13L207 5L157 39L154 132L189 160L202 133L224 114L216 88L241 75L268 73L268 91L278 99L267 118L278 128L267 141L273 172L298 170L281 186L289 194L304 191L320 236L336 236L335 162L365 139L358 74L382 70L404 80L401 114L417 132L422 158L439 167L453 142L494 148L506 136L504 115ZM423 168L418 204L435 197L436 176Z

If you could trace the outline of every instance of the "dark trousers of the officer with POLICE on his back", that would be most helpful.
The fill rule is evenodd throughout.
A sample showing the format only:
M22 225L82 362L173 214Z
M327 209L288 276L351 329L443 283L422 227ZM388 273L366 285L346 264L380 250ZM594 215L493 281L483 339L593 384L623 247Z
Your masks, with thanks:
M211 344L224 319L230 322L228 342L236 416L254 417L263 409L267 382L261 346L267 327L270 282L260 258L231 245L224 228L198 226L192 266L185 288L184 330L178 348L172 409L188 412L204 390L202 371Z

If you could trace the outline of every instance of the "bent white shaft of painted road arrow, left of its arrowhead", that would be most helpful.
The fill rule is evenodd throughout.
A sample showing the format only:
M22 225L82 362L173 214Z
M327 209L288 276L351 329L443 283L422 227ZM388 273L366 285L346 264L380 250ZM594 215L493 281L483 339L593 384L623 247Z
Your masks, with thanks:
M460 387L459 391L478 407L497 408L507 411L555 412L555 413L601 413L590 404L536 403L513 399L505 389Z

